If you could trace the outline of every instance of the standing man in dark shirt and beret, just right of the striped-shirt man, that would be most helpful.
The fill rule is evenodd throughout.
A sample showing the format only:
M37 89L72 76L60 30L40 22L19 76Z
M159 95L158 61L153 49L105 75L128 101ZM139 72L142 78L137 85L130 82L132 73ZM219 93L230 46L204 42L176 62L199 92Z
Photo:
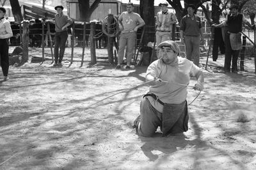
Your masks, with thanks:
M196 15L196 7L193 4L187 6L188 15L180 21L181 43L185 43L186 57L199 65L200 57L200 38L204 43L203 29L200 17Z

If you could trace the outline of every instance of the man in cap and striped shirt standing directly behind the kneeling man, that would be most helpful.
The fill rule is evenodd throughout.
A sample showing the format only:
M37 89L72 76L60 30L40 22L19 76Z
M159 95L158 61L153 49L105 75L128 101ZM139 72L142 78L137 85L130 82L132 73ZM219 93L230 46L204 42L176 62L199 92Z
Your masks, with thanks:
M175 14L167 9L168 3L166 1L159 3L159 6L161 11L157 13L156 17L156 45L172 39L172 25L177 23Z

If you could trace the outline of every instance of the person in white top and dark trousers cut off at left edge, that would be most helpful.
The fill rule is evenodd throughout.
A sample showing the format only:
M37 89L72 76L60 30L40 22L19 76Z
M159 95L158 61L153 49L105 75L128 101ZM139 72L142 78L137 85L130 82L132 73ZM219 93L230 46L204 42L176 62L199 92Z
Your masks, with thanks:
M13 36L10 22L4 18L5 8L0 7L0 58L1 67L4 74L4 81L8 80L9 71L9 45L8 38Z

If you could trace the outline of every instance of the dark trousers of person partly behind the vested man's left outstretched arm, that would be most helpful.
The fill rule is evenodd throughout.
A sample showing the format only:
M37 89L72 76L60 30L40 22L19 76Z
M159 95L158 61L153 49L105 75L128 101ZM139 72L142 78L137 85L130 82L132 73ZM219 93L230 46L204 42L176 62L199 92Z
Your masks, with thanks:
M222 38L221 28L214 28L214 41L212 46L212 60L216 61L218 59L218 52L222 54L225 53L225 43Z

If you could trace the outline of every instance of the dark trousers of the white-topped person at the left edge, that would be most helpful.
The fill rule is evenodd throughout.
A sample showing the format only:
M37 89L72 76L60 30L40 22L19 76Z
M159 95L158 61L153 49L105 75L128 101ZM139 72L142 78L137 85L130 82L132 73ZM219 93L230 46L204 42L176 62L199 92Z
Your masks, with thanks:
M8 39L0 39L0 57L1 57L1 67L4 76L8 76L9 70L9 46Z

